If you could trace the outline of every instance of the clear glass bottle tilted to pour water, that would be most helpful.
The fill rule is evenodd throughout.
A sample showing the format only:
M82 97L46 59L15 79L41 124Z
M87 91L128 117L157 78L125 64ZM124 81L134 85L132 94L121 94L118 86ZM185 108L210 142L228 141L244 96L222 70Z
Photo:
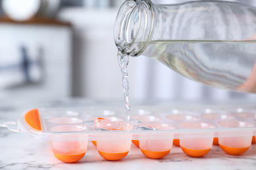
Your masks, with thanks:
M148 56L209 86L256 93L256 9L227 1L158 5L127 0L117 14L119 53Z

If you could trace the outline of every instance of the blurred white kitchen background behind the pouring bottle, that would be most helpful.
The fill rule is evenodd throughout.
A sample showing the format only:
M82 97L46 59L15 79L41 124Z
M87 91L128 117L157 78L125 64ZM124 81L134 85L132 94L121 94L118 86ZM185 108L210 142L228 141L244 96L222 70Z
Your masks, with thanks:
M182 3L152 0L154 3ZM256 6L254 0L240 0ZM123 0L0 0L1 99L123 99L114 22ZM198 84L144 56L129 62L131 99L256 99Z

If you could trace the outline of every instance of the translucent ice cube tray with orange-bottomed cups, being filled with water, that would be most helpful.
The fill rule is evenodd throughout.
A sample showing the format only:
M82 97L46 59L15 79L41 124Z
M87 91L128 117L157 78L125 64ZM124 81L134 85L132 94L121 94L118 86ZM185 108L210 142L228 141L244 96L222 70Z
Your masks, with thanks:
M201 157L213 144L240 155L256 143L255 106L136 106L129 122L124 117L120 107L41 108L0 126L51 142L54 156L69 163L83 158L88 142L112 161L125 158L131 143L152 159L171 154L173 144L188 156Z

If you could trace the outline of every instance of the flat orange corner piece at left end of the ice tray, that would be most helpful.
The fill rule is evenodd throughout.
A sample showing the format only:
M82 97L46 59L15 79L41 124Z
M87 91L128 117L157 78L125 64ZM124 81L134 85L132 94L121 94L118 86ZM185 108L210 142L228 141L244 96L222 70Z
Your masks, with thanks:
M33 129L42 131L39 112L37 109L30 110L24 116L25 122Z

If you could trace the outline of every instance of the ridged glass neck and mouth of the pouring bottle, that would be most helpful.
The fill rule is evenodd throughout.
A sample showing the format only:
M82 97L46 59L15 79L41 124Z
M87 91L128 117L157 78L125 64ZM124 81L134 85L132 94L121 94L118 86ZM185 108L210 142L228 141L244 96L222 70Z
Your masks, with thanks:
M150 0L127 0L116 18L114 39L122 54L139 56L152 39L155 12Z

